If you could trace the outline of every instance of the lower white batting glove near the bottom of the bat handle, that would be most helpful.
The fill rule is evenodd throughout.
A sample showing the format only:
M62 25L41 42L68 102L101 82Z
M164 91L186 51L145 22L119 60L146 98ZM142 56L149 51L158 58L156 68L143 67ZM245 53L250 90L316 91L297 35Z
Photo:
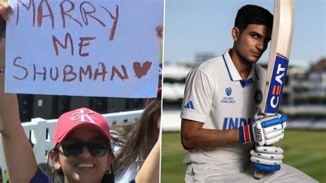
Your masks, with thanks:
M256 146L250 151L252 155L250 161L254 163L254 168L261 171L278 171L283 160L283 149L274 146Z

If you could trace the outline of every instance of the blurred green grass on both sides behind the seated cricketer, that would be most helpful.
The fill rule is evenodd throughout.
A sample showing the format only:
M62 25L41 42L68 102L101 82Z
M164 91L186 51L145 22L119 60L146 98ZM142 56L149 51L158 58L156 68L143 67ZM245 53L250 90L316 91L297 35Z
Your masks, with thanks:
M287 130L285 138L276 146L283 148L285 164L294 166L318 182L326 182L326 131ZM162 183L184 182L184 155L180 132L162 133Z

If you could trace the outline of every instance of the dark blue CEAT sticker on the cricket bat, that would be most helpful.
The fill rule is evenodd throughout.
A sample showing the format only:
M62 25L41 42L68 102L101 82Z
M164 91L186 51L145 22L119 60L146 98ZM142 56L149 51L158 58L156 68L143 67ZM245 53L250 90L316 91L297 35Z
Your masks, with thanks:
M276 54L270 87L268 89L265 113L274 114L279 111L279 102L282 97L288 63L288 58L279 53Z

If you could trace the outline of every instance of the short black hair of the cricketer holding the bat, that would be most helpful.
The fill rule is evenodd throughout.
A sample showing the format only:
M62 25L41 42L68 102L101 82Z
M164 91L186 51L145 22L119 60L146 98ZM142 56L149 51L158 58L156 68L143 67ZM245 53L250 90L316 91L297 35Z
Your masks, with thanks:
M243 31L249 24L266 25L270 30L273 28L273 15L260 6L242 6L235 17L235 27Z

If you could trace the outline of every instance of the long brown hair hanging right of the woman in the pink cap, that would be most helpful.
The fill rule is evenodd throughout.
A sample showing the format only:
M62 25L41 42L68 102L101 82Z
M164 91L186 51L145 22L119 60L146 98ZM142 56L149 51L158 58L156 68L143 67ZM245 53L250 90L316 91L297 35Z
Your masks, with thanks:
M126 137L120 152L116 156L114 170L116 175L136 160L144 161L159 136L157 121L161 116L161 99L156 98L144 109L142 117L135 125L124 128L120 136Z

